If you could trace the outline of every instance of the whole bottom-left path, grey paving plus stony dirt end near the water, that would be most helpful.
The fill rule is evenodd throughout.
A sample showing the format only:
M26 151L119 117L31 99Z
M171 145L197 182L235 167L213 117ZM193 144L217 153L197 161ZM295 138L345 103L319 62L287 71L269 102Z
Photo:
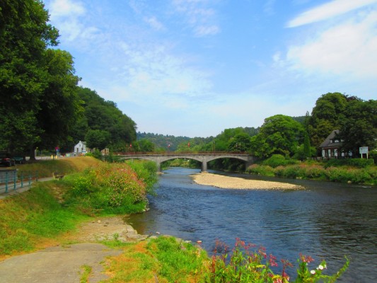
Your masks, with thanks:
M83 266L92 268L90 283L108 278L103 262L109 256L120 255L101 240L141 241L132 226L124 224L120 216L95 219L81 224L78 231L64 236L64 243L27 255L16 255L0 262L1 283L78 283ZM76 242L76 243L75 243Z

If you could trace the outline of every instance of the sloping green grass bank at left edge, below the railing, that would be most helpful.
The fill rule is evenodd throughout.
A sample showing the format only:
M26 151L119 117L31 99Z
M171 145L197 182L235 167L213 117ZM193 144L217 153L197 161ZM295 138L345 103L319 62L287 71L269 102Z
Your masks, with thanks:
M52 186L62 183L37 183L28 192L7 197L1 202L0 254L33 250L42 238L53 238L74 229L76 223L86 219L66 209L51 195ZM17 213L15 213L17 212Z

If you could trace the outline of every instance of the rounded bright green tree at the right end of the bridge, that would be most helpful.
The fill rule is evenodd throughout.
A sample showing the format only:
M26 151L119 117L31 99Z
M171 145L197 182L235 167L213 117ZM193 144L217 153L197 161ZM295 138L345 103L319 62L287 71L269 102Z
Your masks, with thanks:
M251 138L255 156L267 158L272 154L293 156L304 136L301 123L289 116L274 115L265 119L260 133Z

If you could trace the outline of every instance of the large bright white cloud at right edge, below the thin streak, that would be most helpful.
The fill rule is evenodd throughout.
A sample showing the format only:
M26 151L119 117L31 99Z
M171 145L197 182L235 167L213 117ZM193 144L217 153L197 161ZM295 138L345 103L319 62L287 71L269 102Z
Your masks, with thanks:
M289 47L284 64L296 71L335 74L343 79L376 78L376 22L377 12L371 11L362 19L354 17L328 28L302 45Z

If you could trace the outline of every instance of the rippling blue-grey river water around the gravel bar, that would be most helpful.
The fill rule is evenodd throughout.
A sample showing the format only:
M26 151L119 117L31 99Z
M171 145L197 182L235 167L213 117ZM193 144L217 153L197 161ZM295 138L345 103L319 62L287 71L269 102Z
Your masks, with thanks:
M139 233L201 240L209 253L216 239L233 247L237 237L294 265L300 253L315 259L313 269L325 259L327 275L342 267L347 255L351 264L338 282L377 281L377 187L258 178L305 189L231 190L195 184L190 175L199 170L164 173L156 196L149 197L150 210L127 220ZM288 273L293 277L296 267Z

